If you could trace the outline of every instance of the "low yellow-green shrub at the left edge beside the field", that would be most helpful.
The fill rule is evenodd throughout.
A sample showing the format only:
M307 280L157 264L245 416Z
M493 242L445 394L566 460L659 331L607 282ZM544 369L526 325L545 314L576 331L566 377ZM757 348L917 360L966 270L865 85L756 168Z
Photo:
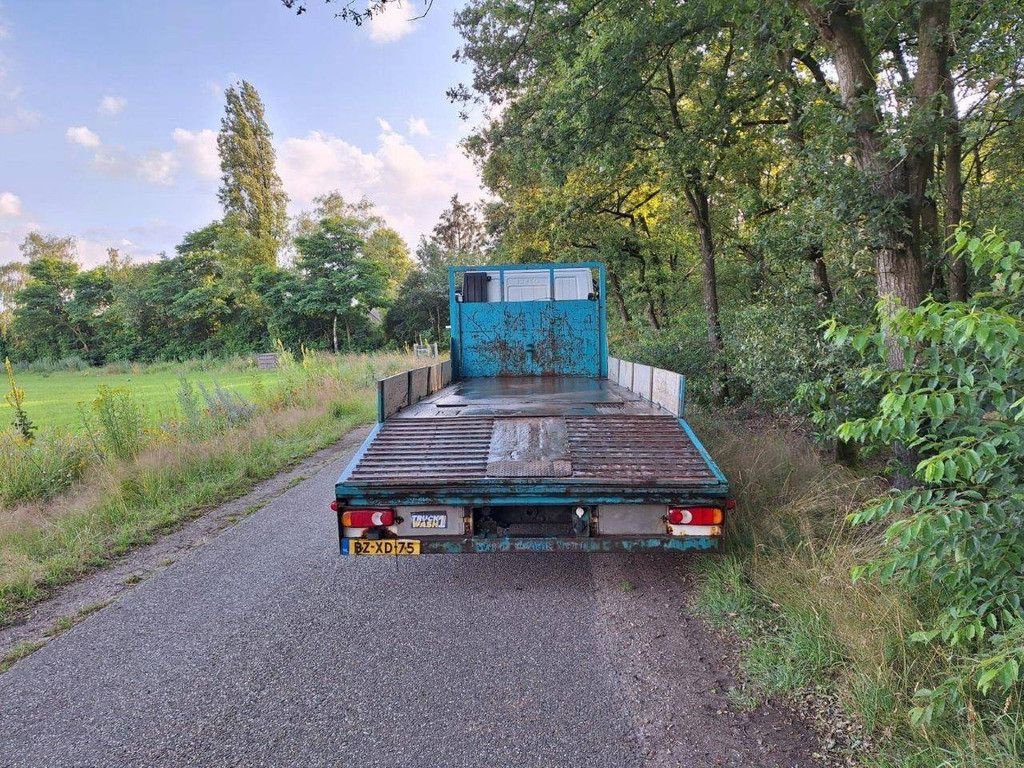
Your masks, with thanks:
M0 434L0 504L51 499L82 477L88 451L81 437L43 433L31 443Z

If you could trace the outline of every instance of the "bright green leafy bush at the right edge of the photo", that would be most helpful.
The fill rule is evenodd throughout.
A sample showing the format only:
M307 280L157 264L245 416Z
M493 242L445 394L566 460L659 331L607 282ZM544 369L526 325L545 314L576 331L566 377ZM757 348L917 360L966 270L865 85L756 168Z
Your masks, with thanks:
M989 290L967 303L884 308L878 328L828 331L864 356L862 383L884 392L838 435L915 457L912 487L851 520L888 525L887 549L856 575L938 597L911 639L940 644L958 674L918 691L921 724L950 707L973 713L976 694L1019 700L1024 668L1024 254L995 232L961 232L953 250ZM903 369L887 366L891 345Z

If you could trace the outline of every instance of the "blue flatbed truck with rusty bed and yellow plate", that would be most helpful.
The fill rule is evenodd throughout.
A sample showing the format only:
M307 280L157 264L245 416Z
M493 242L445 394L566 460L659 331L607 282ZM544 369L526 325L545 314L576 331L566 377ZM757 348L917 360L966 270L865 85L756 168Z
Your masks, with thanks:
M729 488L679 374L609 357L600 263L453 267L452 358L378 382L344 555L711 550Z

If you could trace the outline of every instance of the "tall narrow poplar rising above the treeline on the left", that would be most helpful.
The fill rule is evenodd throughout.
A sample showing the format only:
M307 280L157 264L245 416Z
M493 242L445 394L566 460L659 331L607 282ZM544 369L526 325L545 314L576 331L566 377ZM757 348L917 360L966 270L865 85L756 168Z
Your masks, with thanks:
M229 86L224 96L217 151L225 222L249 236L253 263L273 266L288 228L288 196L278 176L273 134L251 83Z

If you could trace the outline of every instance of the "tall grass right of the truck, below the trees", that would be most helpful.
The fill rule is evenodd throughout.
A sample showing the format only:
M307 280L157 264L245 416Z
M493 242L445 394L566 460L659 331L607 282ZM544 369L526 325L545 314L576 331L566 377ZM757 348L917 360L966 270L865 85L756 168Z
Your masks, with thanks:
M968 713L929 731L910 727L913 691L941 678L947 660L905 640L929 612L928 595L850 577L882 546L881 530L845 524L877 492L876 480L766 422L694 421L738 502L728 552L700 561L698 608L745 639L755 690L834 693L862 729L850 751L863 765L1024 765L1019 699L996 717Z

